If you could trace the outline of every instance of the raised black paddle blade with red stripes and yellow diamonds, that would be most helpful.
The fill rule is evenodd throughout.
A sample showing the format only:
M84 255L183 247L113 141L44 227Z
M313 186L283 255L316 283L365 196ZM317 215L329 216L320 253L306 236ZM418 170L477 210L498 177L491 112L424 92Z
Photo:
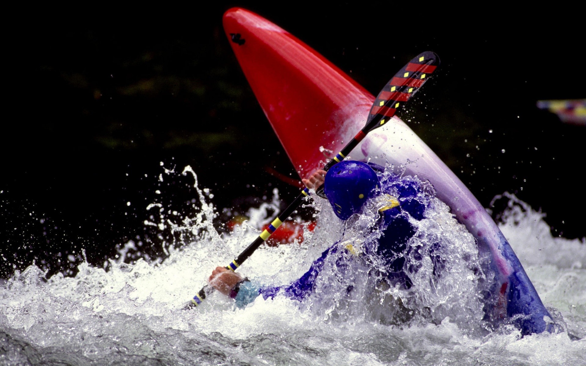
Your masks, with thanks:
M367 131L390 121L397 108L417 93L439 65L440 57L434 52L427 51L414 57L399 70L374 100L366 122Z

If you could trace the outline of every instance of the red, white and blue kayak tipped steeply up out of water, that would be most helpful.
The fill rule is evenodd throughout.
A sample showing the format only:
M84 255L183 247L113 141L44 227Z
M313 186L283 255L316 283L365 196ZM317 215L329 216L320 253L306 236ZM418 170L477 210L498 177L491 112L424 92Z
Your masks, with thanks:
M360 131L374 96L297 37L242 8L224 13L230 45L299 177L321 169ZM388 76L384 76L386 79ZM307 133L320 131L320 133ZM370 132L353 160L393 166L430 182L468 229L494 285L486 317L522 334L552 331L551 315L492 217L464 183L398 117Z

